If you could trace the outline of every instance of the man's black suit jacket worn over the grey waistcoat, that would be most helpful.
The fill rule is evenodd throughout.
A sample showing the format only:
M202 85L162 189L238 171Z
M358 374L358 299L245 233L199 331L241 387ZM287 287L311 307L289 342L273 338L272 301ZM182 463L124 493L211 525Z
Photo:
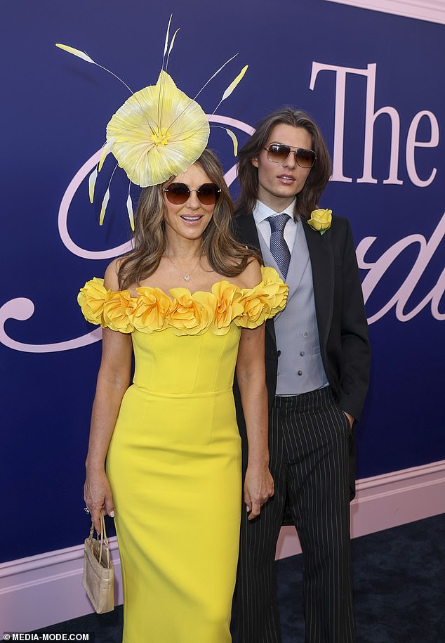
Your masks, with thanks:
M259 254L260 242L251 212L235 212L234 235ZM331 228L321 235L301 219L312 266L315 311L321 359L336 401L359 420L368 389L371 349L357 258L349 221L333 216ZM277 386L278 353L274 322L267 320L265 342L266 384L272 405ZM240 398L235 388L241 438L246 437ZM355 488L355 441L350 450L351 498ZM244 458L245 460L245 458Z

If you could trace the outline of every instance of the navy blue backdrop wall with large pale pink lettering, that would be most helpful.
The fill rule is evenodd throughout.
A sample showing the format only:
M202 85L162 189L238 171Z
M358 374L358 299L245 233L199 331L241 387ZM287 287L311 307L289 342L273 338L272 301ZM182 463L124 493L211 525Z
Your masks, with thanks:
M445 458L444 27L325 0L167 5L15 0L4 7L3 561L85 537L84 457L101 346L76 297L130 235L123 174L113 179L102 228L111 159L93 205L86 178L105 124L128 92L54 44L86 51L140 89L157 80L171 12L180 32L169 72L189 96L239 51L201 94L206 112L249 64L218 110L241 145L258 119L283 104L304 108L324 131L334 174L321 207L352 222L371 323L358 476ZM212 128L210 145L232 181L227 134ZM231 189L236 195L236 181Z

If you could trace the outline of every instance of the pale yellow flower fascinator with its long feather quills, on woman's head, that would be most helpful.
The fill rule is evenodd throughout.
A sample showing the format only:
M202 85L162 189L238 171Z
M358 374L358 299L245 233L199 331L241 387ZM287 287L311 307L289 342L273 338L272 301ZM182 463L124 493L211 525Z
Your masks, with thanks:
M167 181L171 176L180 174L189 168L206 148L210 126L204 111L196 102L196 98L216 74L218 74L227 63L230 63L237 54L227 60L224 65L208 79L194 98L189 98L178 89L166 71L168 58L173 48L176 34L179 31L175 31L170 41L171 18L172 16L170 16L170 20L168 21L162 68L157 84L150 85L136 92L131 91L128 85L116 76L116 74L107 70L106 67L95 63L84 51L64 44L56 44L57 47L68 53L72 53L87 63L93 63L93 65L97 65L106 72L109 72L109 74L112 74L123 83L131 93L130 98L126 100L124 105L121 105L107 124L107 142L102 148L102 155L98 165L93 169L88 179L90 201L93 203L95 181L98 177L98 172L102 169L108 152L112 152L117 160L117 165L114 167L112 176L109 179L108 188L102 200L99 217L100 225L102 225L105 217L105 210L109 201L109 186L117 167L124 169L130 180L127 210L131 228L134 230L133 204L130 195L131 183L141 188L164 183L164 181ZM237 84L239 84L246 73L247 67L248 65L243 67L234 81L227 87L220 102L215 110L213 110L213 113L215 113L223 100L230 96ZM232 139L234 155L237 155L237 138L230 129L226 129L226 131Z

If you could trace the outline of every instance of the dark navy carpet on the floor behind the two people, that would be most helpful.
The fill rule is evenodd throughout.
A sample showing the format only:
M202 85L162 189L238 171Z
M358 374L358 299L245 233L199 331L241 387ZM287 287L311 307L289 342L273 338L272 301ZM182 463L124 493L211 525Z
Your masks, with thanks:
M445 514L356 538L352 557L357 643L445 643ZM301 556L277 561L283 643L304 641L301 573ZM94 632L95 643L119 643L122 607L39 632ZM147 632L140 643L163 642Z

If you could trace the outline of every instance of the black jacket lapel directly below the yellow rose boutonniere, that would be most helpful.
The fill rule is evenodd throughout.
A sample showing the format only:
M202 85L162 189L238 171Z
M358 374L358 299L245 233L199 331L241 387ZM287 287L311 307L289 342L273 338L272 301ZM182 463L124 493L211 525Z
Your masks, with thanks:
M331 229L321 235L302 219L312 266L315 311L322 345L328 341L333 314L334 259Z

